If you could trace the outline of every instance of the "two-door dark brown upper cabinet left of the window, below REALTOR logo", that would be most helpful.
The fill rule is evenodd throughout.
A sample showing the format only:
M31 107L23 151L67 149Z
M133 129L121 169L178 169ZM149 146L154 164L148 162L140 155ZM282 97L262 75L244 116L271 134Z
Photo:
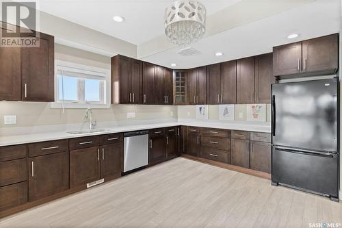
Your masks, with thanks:
M55 100L54 37L39 33L37 39L39 47L0 48L0 100Z

